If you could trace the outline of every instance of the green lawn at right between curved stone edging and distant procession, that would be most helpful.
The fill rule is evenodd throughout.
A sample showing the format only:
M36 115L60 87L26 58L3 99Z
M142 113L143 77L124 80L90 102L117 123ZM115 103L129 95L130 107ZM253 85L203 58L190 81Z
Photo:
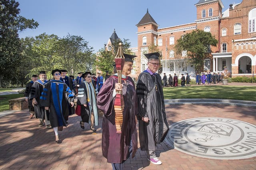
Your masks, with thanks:
M188 86L164 88L164 99L212 98L256 101L255 86Z

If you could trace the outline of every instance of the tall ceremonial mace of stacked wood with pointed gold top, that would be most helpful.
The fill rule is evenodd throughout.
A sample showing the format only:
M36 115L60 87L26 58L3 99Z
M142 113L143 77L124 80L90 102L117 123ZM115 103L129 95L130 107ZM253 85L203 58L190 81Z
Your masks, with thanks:
M118 75L118 83L122 84L122 70L124 67L124 54L122 50L122 43L118 44L118 51L115 57L116 71ZM122 95L122 90L116 91L116 99L114 104L115 109L115 123L116 123L116 133L121 133L123 124L123 110L124 110L124 97Z

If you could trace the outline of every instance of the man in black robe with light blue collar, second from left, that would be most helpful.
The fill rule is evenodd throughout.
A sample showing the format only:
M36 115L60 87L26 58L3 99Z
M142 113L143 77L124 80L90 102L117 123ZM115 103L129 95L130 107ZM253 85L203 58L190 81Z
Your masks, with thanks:
M44 86L47 83L47 80L45 80L46 73L45 71L40 71L39 72L39 80L35 81L34 84L32 85L30 94L29 94L29 100L32 100L34 104L34 110L35 110L35 117L39 118L40 124L38 127L42 127L44 125L44 120L45 120L45 125L47 128L51 128L50 121L47 119L46 116L46 111L44 107L41 106L40 104L40 96L43 92Z

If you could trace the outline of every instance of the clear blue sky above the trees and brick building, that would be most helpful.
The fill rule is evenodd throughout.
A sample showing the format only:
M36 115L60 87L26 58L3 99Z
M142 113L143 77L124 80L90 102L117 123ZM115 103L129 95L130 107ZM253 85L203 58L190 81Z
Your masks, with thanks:
M55 34L62 38L79 35L88 41L94 52L104 47L114 29L119 38L129 39L137 47L136 24L149 14L160 25L158 28L192 23L196 20L199 0L16 0L20 15L38 21L36 29L19 33L24 38L41 33ZM229 4L242 0L222 0L224 10Z

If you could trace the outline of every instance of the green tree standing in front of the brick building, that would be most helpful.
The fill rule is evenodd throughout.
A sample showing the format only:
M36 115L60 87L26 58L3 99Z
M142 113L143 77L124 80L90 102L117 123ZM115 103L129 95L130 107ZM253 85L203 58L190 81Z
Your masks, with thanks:
M212 57L210 46L216 47L217 43L210 32L198 29L180 37L175 45L175 51L178 54L186 51L188 61L194 66L195 72L202 72L204 59Z

